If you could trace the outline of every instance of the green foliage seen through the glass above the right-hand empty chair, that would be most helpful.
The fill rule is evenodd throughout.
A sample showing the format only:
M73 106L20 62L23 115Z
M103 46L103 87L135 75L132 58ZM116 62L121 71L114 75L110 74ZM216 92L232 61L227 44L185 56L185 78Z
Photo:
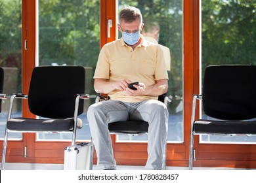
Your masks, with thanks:
M214 64L256 64L256 1L202 1L202 71Z

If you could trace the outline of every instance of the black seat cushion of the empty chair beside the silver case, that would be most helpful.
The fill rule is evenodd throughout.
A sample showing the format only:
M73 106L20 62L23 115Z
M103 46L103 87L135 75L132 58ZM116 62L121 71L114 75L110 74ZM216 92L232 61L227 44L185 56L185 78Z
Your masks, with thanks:
M77 128L81 128L83 122L77 118ZM12 118L7 121L7 129L12 131L72 131L74 118L68 119L32 119Z

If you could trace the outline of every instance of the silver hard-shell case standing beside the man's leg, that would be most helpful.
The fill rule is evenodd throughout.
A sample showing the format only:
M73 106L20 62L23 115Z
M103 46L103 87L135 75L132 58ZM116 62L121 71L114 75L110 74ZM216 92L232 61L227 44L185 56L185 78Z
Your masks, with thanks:
M81 142L68 146L64 152L64 170L92 170L93 144Z

